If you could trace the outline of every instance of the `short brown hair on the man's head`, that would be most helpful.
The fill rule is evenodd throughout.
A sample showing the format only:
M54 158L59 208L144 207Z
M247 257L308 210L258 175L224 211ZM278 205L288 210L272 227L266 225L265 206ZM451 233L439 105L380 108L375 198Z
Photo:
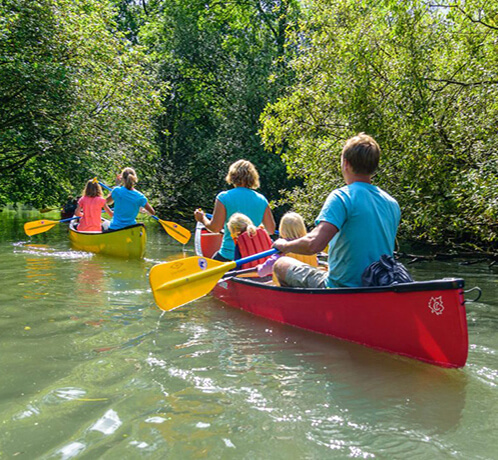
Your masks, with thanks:
M379 165L380 147L373 137L360 133L346 141L342 156L356 174L371 175Z

